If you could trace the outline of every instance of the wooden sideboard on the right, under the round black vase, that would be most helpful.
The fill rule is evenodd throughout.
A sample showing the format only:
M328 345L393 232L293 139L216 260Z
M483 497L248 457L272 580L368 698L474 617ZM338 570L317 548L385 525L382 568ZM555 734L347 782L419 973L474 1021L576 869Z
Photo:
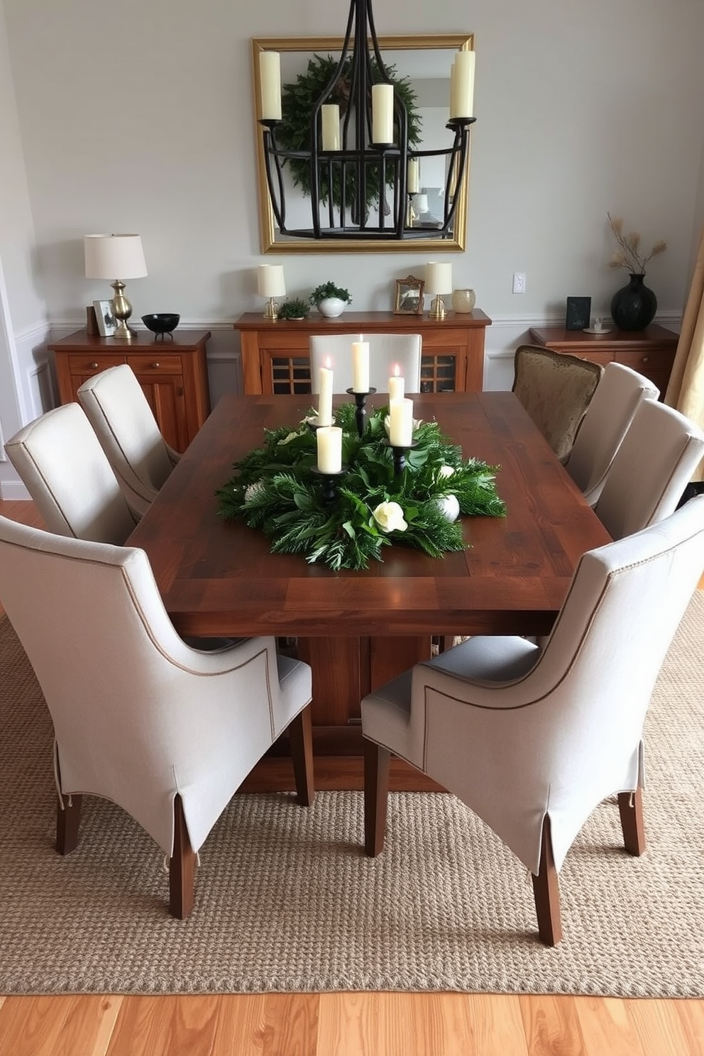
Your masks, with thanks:
M645 375L658 385L661 399L667 390L679 337L672 331L652 323L643 331L612 329L609 334L585 334L562 326L532 327L533 344L553 352L567 352L591 363L623 363Z

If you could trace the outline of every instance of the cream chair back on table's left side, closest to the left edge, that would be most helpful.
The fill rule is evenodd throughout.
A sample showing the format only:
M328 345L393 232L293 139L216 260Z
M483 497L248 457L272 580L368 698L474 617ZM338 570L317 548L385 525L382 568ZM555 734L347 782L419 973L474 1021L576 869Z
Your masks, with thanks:
M50 531L121 545L134 529L137 517L78 403L42 414L5 451Z

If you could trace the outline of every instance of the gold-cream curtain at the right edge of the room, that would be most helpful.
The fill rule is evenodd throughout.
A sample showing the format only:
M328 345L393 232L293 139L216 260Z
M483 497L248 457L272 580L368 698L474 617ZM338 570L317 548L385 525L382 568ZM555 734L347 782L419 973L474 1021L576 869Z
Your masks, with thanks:
M704 230L665 402L704 429ZM704 458L691 479L704 480Z

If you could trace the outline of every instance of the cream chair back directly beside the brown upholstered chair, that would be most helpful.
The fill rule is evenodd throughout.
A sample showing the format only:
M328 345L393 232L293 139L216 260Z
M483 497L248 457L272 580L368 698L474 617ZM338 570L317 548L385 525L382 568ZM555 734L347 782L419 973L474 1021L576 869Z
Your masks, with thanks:
M566 467L590 506L602 493L606 475L639 403L658 399L652 381L622 363L607 363L574 438Z

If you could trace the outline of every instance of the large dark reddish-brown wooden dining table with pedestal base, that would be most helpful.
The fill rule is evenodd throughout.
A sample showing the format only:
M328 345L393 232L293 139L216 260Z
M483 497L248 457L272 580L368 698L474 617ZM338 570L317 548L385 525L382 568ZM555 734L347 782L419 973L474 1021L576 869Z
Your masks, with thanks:
M463 517L467 549L439 559L395 545L335 572L272 554L262 532L220 516L215 492L265 429L310 409L309 395L224 396L128 543L147 551L179 634L273 635L311 664L317 787L360 788L361 698L430 657L432 636L547 634L579 557L609 535L513 393L441 393L415 396L415 417L496 467L505 517ZM396 760L392 787L432 786ZM285 738L244 788L292 788Z

